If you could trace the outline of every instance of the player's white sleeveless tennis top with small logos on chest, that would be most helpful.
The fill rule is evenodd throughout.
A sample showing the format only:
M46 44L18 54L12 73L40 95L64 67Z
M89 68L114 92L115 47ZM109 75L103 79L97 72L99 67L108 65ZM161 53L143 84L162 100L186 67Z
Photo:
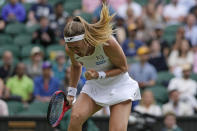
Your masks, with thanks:
M103 50L103 44L96 46L92 55L80 57L75 54L75 59L86 67L86 69L106 71L113 68L113 64Z

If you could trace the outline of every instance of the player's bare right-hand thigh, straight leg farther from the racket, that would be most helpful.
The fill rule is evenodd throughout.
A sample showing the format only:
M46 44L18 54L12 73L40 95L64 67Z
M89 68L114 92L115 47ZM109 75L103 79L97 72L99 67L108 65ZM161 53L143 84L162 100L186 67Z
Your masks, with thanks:
M110 131L126 131L131 112L131 100L121 102L110 107Z

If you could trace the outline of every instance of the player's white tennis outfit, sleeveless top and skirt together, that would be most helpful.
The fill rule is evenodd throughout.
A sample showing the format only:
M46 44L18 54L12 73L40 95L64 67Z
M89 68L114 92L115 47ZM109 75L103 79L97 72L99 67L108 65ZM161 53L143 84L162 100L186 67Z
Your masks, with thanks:
M94 53L90 56L80 57L75 54L75 59L86 69L107 71L114 67L109 57L105 55L103 45L96 46ZM87 80L81 93L87 94L101 106L141 99L138 83L130 78L128 72L105 79Z

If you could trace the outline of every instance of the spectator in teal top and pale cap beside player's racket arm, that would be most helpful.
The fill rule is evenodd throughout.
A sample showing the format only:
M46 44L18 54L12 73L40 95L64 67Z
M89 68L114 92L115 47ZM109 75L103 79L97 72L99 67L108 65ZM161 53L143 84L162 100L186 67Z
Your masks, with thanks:
M58 78L60 81L63 81L65 78L65 72L68 63L65 60L65 53L63 51L58 51L56 53L56 62L53 65L53 74L55 78Z

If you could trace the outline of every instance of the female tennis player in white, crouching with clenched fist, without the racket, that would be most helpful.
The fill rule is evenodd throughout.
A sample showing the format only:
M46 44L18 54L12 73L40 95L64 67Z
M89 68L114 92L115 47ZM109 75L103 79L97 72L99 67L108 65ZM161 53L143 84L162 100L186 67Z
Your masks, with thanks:
M81 131L88 117L103 106L110 106L109 130L126 131L131 101L141 99L137 82L127 73L125 55L112 36L112 18L103 4L97 23L75 17L64 29L66 52L72 62L67 94L70 104L77 92L81 67L87 70L87 81L72 107L68 131Z

